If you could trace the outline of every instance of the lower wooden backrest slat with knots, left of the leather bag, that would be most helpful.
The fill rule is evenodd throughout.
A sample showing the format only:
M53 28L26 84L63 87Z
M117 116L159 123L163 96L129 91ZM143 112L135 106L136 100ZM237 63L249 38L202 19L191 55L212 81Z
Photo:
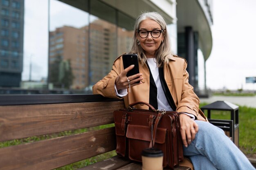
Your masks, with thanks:
M0 149L0 170L51 170L115 150L115 128Z

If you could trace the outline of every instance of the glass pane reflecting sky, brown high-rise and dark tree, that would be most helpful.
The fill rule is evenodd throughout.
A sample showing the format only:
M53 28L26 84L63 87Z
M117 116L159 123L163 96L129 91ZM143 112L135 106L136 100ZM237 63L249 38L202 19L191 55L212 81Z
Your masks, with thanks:
M50 0L49 83L54 88L88 86L89 13L84 10L86 1Z

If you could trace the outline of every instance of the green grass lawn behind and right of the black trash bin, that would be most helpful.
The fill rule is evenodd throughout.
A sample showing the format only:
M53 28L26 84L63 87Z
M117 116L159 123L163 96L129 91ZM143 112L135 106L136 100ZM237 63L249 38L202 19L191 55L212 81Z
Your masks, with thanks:
M230 120L230 112L211 110L211 119ZM239 148L248 157L256 157L256 108L239 106Z

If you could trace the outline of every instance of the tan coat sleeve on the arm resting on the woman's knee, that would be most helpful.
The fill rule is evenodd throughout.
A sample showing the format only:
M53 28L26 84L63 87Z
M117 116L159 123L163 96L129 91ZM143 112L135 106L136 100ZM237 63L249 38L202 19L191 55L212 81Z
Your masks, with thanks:
M186 112L195 115L197 119L199 112L199 98L193 91L193 86L189 84L189 73L186 71L187 63L184 60L183 66L183 83L181 100L177 104L177 112Z

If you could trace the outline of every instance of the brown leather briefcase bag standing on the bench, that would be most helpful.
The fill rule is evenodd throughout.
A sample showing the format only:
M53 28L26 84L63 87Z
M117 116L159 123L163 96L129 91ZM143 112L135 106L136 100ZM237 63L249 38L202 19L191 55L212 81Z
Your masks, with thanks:
M150 110L133 106L146 104ZM117 155L141 162L144 148L159 148L164 152L163 166L171 169L183 161L180 121L177 112L155 110L145 102L135 102L126 109L114 111Z

